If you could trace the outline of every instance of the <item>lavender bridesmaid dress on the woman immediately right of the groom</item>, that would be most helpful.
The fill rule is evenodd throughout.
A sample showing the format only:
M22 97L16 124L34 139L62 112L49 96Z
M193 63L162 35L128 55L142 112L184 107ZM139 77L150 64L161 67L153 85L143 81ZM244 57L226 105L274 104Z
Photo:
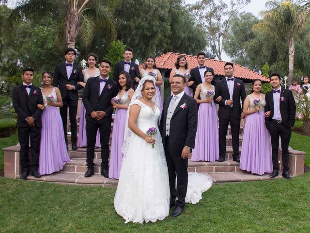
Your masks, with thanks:
M208 89L201 83L201 100L210 99L207 96ZM212 86L213 93L215 88ZM195 139L195 149L192 151L192 161L215 162L219 157L218 149L218 127L217 127L217 109L212 98L211 103L201 103L198 109L198 124Z

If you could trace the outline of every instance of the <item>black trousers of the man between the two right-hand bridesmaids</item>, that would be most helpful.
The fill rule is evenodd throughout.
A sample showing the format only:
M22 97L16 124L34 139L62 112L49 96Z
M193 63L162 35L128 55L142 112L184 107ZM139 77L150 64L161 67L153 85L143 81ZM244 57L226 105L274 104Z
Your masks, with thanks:
M239 131L240 131L240 118L237 119L233 116L233 108L229 109L229 117L227 119L219 118L219 157L225 157L226 153L226 135L228 124L231 123L232 139L233 139L233 157L239 157Z

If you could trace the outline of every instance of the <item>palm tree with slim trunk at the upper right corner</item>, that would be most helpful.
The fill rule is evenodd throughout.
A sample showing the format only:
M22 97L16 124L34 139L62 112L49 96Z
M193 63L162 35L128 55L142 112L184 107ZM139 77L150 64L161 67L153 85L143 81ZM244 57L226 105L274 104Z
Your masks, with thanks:
M267 1L269 10L261 11L263 21L253 26L254 31L270 33L275 39L285 38L288 42L289 52L289 84L292 83L294 73L295 37L301 33L308 22L308 13L292 0Z

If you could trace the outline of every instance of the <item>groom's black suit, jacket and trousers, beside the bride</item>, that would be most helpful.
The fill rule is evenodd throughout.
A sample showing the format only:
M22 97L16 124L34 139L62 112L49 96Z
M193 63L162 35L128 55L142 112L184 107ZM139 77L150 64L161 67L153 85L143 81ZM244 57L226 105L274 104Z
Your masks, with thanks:
M164 100L163 111L161 114L159 131L165 148L167 159L170 203L183 207L187 191L187 159L182 159L181 153L184 146L194 148L195 136L197 131L197 102L185 93L177 104L170 121L170 133L166 137L166 119L169 103L172 96ZM181 108L186 103L186 109ZM175 175L176 173L176 175ZM175 189L175 178L177 177L177 187Z

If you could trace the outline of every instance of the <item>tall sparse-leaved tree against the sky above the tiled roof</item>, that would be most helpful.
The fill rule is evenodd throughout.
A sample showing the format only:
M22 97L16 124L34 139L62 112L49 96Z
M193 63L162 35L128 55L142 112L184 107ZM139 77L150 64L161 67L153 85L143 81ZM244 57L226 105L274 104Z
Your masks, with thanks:
M231 0L230 8L223 0L201 0L189 5L197 23L205 30L207 42L218 60L222 60L223 46L232 17L249 2L250 0Z

